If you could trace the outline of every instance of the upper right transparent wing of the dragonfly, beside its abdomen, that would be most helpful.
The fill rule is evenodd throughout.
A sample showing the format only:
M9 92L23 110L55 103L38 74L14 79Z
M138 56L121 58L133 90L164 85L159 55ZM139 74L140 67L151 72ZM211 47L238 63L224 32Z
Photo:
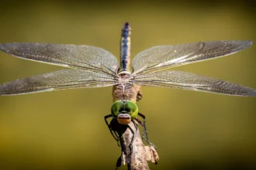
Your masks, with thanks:
M134 57L132 61L133 75L227 56L246 49L251 44L251 41L212 41L177 46L154 46Z

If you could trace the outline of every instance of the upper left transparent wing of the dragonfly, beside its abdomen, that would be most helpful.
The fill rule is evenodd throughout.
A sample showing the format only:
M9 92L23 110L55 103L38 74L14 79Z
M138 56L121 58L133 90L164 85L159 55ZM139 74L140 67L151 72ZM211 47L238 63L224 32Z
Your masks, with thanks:
M2 43L0 50L22 59L58 66L114 74L118 61L112 53L95 46L46 43Z

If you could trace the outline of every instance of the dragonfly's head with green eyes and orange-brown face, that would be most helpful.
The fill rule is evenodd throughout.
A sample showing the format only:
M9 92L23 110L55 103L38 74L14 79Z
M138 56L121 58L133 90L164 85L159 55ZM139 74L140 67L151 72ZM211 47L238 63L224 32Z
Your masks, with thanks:
M117 100L111 107L112 117L116 118L119 124L129 124L137 117L138 112L137 104L131 100Z

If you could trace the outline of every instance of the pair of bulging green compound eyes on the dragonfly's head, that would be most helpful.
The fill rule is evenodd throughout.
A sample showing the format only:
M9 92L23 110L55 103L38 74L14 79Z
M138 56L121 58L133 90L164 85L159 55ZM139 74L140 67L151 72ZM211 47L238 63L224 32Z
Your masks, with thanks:
M137 104L131 100L117 100L114 104L112 104L111 114L113 117L117 118L118 114L122 112L130 114L130 117L133 120L135 117L137 117L139 110Z

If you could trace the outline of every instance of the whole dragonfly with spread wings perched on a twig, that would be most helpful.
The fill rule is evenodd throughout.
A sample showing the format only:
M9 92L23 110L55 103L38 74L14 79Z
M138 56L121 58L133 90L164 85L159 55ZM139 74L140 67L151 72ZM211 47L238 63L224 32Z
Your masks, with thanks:
M118 127L119 124L127 125L134 120L144 126L144 133L148 139L145 124L137 119L138 116L145 118L139 113L136 104L142 97L140 86L256 96L256 90L250 87L194 73L166 70L237 53L251 46L251 41L212 41L154 46L133 58L130 71L130 32L130 25L126 22L120 41L120 64L112 53L95 46L2 43L0 49L12 56L64 66L68 69L3 83L0 85L0 95L112 86L114 103L111 114L105 119L112 117L111 123L106 123L116 141L119 141L119 134L116 134L114 127Z

